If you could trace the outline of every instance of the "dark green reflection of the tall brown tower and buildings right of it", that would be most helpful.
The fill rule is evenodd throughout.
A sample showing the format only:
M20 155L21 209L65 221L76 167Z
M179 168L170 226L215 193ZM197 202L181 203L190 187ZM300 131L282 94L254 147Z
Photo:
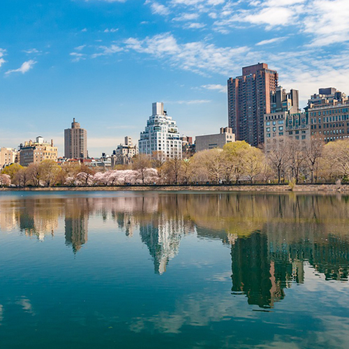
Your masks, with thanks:
M329 235L321 242L299 239L277 244L272 238L271 231L253 232L231 246L232 292L246 295L248 304L274 306L285 297L285 288L304 282L304 262L326 280L348 280L347 239Z

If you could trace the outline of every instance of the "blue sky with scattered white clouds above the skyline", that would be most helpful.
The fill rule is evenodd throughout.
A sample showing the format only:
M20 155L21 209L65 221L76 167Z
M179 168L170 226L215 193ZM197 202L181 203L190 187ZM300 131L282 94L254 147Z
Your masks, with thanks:
M226 80L265 62L299 89L349 93L348 0L1 0L0 147L75 117L90 156L138 140L163 101L180 133L228 124Z

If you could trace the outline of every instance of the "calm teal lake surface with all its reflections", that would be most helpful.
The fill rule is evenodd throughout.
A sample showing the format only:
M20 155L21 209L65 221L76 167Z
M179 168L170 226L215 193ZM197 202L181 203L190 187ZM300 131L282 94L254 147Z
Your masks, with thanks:
M0 347L349 348L349 197L1 193Z

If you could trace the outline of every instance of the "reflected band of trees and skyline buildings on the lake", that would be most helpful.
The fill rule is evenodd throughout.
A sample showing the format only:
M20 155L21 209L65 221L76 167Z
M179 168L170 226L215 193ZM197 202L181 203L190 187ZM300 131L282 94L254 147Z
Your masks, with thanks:
M194 230L199 237L221 239L232 245L233 260L235 255L240 256L233 267L235 273L239 267L248 269L248 263L253 262L248 260L244 266L242 256L255 253L253 258L260 258L262 269L250 266L250 273L255 270L256 284L246 293L250 292L253 302L263 306L282 299L284 288L303 281L304 261L325 274L326 279L348 279L347 196L144 193L109 198L45 195L0 201L1 230L13 229L17 224L27 235L42 239L57 230L61 216L66 243L75 252L87 242L89 216L114 221L130 237L139 230L159 273L178 253L184 233ZM262 244L259 252L258 239ZM257 276L269 281L257 282ZM244 277L237 274L233 279L234 292L245 292L248 282L239 281ZM269 295L261 291L255 297L255 288L265 290L266 284Z

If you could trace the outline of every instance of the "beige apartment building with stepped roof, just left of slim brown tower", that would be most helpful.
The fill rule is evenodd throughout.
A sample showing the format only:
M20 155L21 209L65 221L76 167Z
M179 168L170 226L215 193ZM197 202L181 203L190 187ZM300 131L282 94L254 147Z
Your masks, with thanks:
M20 165L29 166L31 163L40 163L44 160L57 161L58 149L54 147L53 140L45 142L41 136L33 142L24 142L20 145Z

